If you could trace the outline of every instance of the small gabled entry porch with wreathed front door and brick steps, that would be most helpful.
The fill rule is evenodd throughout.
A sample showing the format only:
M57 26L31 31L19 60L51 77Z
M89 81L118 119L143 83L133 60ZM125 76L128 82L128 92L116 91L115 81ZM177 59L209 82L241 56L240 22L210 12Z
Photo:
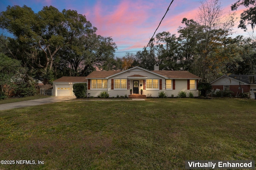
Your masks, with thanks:
M146 98L146 76L132 75L128 76L128 90L131 90L129 98Z

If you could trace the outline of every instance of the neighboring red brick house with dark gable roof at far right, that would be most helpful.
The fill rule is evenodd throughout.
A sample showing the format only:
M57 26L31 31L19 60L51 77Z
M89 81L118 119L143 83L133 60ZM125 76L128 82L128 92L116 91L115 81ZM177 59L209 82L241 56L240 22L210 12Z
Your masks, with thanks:
M230 90L234 96L240 93L250 92L251 98L254 98L256 92L256 75L223 75L211 82L212 89Z

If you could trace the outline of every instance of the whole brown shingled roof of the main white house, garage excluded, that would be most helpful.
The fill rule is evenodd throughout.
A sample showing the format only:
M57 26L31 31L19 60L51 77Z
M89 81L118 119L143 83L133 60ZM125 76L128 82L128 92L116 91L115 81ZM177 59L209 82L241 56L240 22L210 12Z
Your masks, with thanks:
M163 70L158 70L158 71L150 71L150 70L146 70L144 68L141 68L139 66L135 66L133 68L130 68L128 70L124 70L124 71L93 71L91 74L89 74L86 79L91 79L91 78L110 78L112 76L116 76L118 74L122 74L124 72L129 72L130 70L144 70L146 72L150 72L152 74L161 76L163 78L175 78L175 79L201 79L200 77L188 72L188 71L163 71ZM131 75L128 77L145 77L145 76L141 76L141 75Z

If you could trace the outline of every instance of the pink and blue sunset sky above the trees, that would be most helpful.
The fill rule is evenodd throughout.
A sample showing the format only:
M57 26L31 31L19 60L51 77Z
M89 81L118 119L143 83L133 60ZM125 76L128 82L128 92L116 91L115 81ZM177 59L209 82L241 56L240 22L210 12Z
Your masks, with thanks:
M0 11L5 11L8 5L26 5L34 12L44 6L54 6L59 11L63 9L76 10L86 16L97 34L112 37L118 50L116 57L124 57L126 52L136 53L148 44L162 17L172 0L1 0ZM221 0L223 10L228 14L230 6L237 0ZM170 10L162 21L158 31L169 31L177 34L182 25L182 18L196 20L200 0L174 0ZM238 8L237 17L245 8ZM239 20L237 20L239 21ZM237 24L238 25L238 24ZM246 35L244 31L234 27L234 35Z

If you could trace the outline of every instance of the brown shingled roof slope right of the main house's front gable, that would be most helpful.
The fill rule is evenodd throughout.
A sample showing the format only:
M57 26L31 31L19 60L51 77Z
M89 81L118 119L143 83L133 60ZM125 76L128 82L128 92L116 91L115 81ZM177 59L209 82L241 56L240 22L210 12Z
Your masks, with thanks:
M200 79L200 77L188 72L188 71L152 71L154 73L160 74L162 76L168 77L168 78L184 78L184 79Z

